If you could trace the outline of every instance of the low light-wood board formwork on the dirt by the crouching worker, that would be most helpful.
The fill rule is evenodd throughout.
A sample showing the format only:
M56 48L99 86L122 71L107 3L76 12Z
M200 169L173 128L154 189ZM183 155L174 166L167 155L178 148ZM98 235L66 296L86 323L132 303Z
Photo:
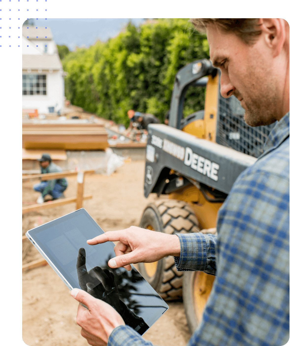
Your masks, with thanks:
M40 209L49 209L57 206L63 206L64 204L76 203L76 210L81 209L83 207L83 201L87 199L92 199L93 195L88 194L84 195L84 176L86 174L92 174L94 170L86 170L80 172L60 172L60 173L46 173L46 174L31 174L22 176L22 181L27 181L31 179L41 179L44 180L53 180L60 179L66 176L77 176L77 196L70 198L63 198L55 201L49 201L40 204L32 204L27 207L22 207L22 215L28 213L30 211L37 211ZM26 236L22 236L22 243L27 240ZM37 268L39 266L47 265L46 260L37 260L30 262L28 264L22 265L22 272L26 270L30 270L33 268Z

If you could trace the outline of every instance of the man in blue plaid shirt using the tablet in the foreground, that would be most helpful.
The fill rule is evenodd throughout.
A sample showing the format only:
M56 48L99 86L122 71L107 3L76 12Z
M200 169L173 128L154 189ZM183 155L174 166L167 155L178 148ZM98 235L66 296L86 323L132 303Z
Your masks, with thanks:
M217 235L130 227L90 245L118 242L110 267L173 255L177 270L215 275L203 319L188 345L280 346L289 340L289 24L282 18L193 18L206 30L221 70L221 94L235 95L250 126L275 127L255 164L237 178L218 211ZM77 323L90 345L152 345L120 315L73 289Z

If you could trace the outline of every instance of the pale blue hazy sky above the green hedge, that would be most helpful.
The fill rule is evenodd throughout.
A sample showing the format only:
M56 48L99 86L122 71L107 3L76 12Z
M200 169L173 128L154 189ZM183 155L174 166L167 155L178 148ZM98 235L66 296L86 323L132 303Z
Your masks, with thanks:
M97 40L105 42L117 36L131 19L138 27L146 18L31 18L35 26L49 27L57 45L66 45L73 52L76 47L90 47ZM31 20L30 19L30 20ZM151 18L150 18L151 19Z

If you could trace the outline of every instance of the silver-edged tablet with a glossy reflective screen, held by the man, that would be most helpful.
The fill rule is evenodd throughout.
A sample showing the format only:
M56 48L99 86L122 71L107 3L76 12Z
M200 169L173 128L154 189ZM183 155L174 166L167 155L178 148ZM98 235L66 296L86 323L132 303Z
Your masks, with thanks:
M168 309L168 305L132 266L110 268L114 243L88 245L104 231L79 209L26 232L57 275L72 290L85 290L120 313L126 325L143 335Z

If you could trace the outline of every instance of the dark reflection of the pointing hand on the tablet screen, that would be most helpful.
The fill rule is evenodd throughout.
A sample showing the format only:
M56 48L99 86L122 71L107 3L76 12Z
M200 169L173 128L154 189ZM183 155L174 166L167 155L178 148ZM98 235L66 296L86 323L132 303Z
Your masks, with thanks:
M120 304L119 291L114 280L114 274L108 269L103 270L98 266L87 272L84 248L80 248L78 251L76 268L78 283L81 289L90 293L93 297L110 304L122 315L123 307Z

